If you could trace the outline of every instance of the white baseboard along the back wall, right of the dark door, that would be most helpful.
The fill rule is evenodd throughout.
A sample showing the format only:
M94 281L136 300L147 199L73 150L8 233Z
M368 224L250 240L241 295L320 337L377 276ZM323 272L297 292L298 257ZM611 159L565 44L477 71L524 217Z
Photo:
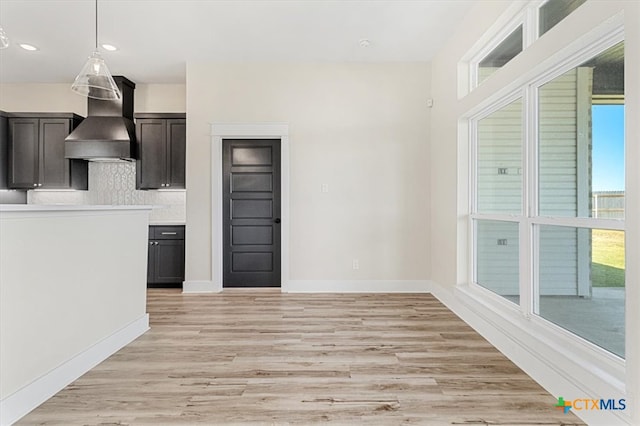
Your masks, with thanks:
M429 293L429 280L289 280L283 293Z

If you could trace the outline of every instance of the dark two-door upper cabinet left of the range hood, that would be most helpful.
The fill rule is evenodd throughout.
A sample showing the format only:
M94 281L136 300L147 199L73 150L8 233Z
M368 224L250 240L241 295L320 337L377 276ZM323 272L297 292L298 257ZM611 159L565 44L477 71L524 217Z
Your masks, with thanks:
M8 187L87 189L87 162L64 158L64 139L81 121L65 113L10 114Z

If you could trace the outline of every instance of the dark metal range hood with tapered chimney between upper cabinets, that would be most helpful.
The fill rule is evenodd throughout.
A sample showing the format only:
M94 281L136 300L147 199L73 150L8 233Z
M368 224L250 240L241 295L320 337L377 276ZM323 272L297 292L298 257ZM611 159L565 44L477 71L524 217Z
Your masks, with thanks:
M66 158L90 161L133 161L136 158L136 128L133 124L135 83L114 76L122 99L88 99L87 118L65 139Z

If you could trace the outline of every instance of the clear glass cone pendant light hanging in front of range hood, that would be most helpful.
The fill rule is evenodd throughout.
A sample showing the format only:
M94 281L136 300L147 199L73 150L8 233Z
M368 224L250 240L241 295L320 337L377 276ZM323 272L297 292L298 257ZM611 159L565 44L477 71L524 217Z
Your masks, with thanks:
M98 0L96 0L95 6L96 47L71 85L71 90L94 99L119 100L122 98L122 94L98 51Z

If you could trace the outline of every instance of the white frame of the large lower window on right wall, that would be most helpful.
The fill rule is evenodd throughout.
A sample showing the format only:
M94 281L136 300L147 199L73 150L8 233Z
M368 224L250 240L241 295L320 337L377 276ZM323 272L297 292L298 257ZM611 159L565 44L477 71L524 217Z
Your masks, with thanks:
M542 4L542 3L541 3ZM599 53L604 52L615 44L624 41L624 31L622 25L608 31L602 35L597 42L593 42L586 47L577 49L573 53L567 54L562 58L558 58L555 65L540 70L534 77L528 79L523 84L519 84L517 88L507 92L497 100L489 102L482 108L476 110L475 113L468 116L469 129L469 170L470 170L470 186L469 186L469 251L470 251L470 268L468 269L468 282L470 286L479 294L483 294L490 300L499 303L507 309L520 310L521 314L536 322L543 327L553 329L557 333L563 334L569 339L575 340L581 345L589 347L590 350L596 352L599 356L609 358L613 362L621 362L616 355L600 348L597 345L587 342L581 337L569 332L568 330L545 320L537 315L539 301L539 277L538 271L538 255L540 242L538 231L540 226L566 226L573 228L587 229L606 229L625 231L625 221L622 219L602 219L587 217L560 217L560 216L540 216L539 215L539 188L538 188L538 91L544 84L561 76L567 71L579 66L585 61L592 59ZM489 116L493 112L498 111L509 103L521 98L522 99L522 128L523 128L523 145L522 145L522 212L520 215L515 214L486 214L479 213L477 210L477 163L478 163L478 123L483 118ZM507 301L501 296L484 288L477 283L476 280L476 264L475 264L475 223L479 220L516 222L519 224L519 287L520 287L520 303L516 305ZM616 361L618 360L618 361Z

